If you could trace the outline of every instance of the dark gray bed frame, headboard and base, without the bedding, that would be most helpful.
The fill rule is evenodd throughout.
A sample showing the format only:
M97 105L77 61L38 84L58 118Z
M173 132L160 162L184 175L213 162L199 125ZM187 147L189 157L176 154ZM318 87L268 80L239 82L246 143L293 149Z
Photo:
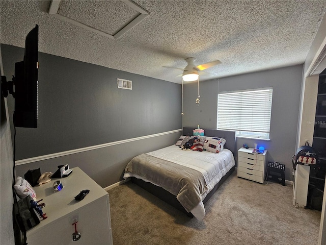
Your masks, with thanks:
M183 127L182 129L182 135L193 135L193 129L190 127ZM226 149L229 149L233 154L235 152L235 131L224 131L224 130L212 130L212 129L204 129L205 136L211 136L211 137L221 137L226 139L226 143L224 147ZM223 182L233 173L234 166L228 171L228 173L222 177L220 182L215 185L215 187L206 195L206 198L203 200L203 203L205 204L211 196L214 194L214 192L223 184ZM171 194L169 191L153 185L152 183L143 181L141 179L137 179L135 177L131 177L131 181L138 186L142 187L143 189L147 190L151 194L155 195L155 197L161 199L162 201L165 201L166 203L170 204L171 206L175 207L179 211L187 214L189 217L194 217L194 215L191 212L187 212L183 206L179 203L177 200L177 197L173 194Z

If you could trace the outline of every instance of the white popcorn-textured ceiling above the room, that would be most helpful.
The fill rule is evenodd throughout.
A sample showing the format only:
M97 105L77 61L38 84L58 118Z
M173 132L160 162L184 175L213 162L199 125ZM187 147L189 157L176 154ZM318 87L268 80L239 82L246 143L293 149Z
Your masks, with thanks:
M133 1L150 14L118 39L48 14L51 1L0 1L1 43L180 83L187 57L220 60L200 81L302 64L326 1ZM59 14L114 35L139 13L123 1L61 1Z

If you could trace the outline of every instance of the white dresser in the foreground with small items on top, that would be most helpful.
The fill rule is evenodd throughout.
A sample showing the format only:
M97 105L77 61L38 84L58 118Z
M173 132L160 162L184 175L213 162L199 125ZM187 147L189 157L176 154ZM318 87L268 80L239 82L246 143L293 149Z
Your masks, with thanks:
M40 203L46 205L42 211L47 218L27 231L29 245L113 244L108 193L79 167L72 169L71 175L66 178L52 179L34 187L37 200L43 199ZM63 189L58 192L52 188L56 180L63 183ZM84 189L90 192L84 200L76 201L74 197ZM81 235L77 241L72 239L74 220Z

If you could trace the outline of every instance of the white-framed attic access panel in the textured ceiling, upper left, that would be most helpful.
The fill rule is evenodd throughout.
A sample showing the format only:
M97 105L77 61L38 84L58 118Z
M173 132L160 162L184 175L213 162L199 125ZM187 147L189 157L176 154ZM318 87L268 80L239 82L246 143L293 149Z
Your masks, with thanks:
M112 39L118 39L149 15L148 11L130 0L52 0L48 13Z

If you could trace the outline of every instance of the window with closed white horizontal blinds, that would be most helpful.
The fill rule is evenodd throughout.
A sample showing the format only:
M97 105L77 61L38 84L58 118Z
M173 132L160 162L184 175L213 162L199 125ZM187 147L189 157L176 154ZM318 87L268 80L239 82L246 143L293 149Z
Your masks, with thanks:
M217 129L235 130L236 136L269 139L273 88L218 94Z

